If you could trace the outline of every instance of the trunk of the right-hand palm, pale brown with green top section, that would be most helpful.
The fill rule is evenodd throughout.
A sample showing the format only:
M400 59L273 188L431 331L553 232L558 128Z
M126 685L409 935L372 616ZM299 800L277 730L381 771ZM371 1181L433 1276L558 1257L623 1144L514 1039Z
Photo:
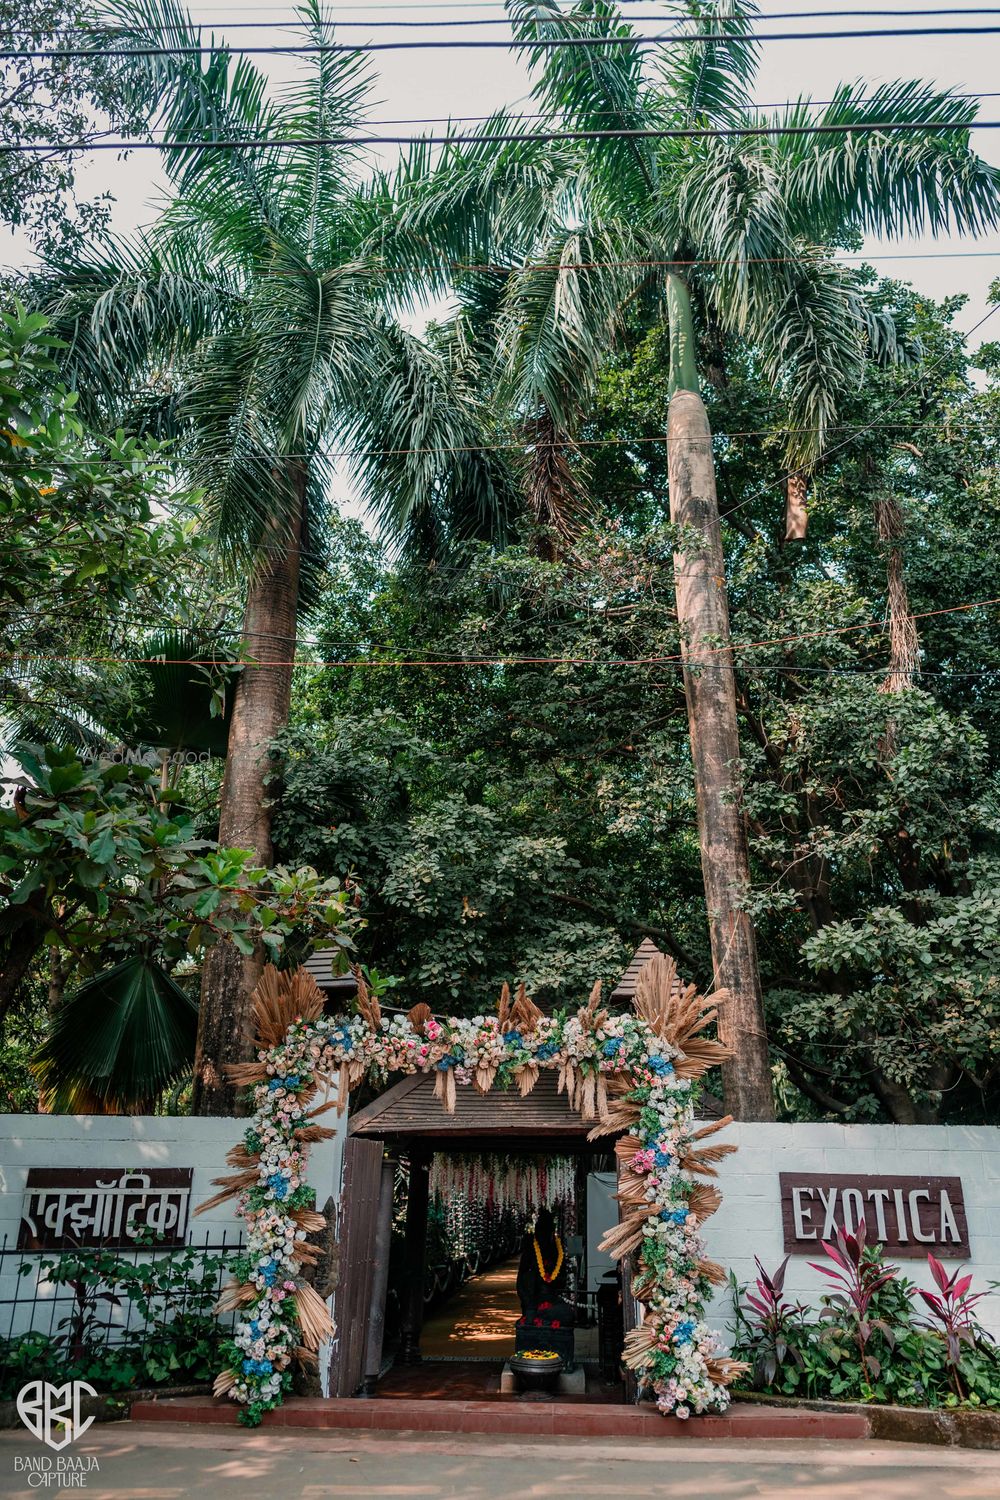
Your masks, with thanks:
M675 278L672 278L672 282ZM726 560L715 494L708 412L697 390L687 288L670 296L670 416L667 472L670 520L684 528L673 555L684 692L694 765L702 876L712 940L715 986L730 999L720 1011L720 1038L733 1050L723 1065L726 1107L745 1120L774 1119L760 970L750 894L747 830L739 810L735 658L729 642Z

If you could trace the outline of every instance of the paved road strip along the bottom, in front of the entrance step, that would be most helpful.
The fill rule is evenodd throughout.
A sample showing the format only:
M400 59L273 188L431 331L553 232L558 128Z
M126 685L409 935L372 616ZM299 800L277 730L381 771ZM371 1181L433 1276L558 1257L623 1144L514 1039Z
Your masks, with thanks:
M0 1434L0 1496L39 1494ZM1000 1454L909 1443L708 1443L441 1437L399 1432L247 1432L169 1424L93 1426L73 1456L99 1464L90 1500L996 1500ZM54 1466L52 1466L54 1467ZM37 1480L37 1474L33 1476ZM45 1491L51 1492L51 1491Z

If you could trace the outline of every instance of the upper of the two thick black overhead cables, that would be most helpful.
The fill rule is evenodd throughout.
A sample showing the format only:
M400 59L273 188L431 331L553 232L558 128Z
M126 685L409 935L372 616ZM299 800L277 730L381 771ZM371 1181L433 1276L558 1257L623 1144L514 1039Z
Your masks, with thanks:
M658 36L553 36L537 38L532 40L520 40L519 38L489 40L480 40L477 38L453 38L433 42L358 42L357 45L339 42L306 42L300 46L228 46L225 42L199 42L190 46L84 46L0 51L0 60L40 62L43 58L52 58L61 62L91 57L202 57L213 52L229 52L241 57L271 57L276 54L301 57L307 54L328 52L480 51L487 48L502 48L504 51L538 51L549 48L600 51L610 46L631 46L634 50L645 51L651 46L687 46L691 42L864 42L865 39L885 36L897 39L904 36L996 36L997 33L1000 33L999 26L918 26L880 27L877 30L867 32L757 32L747 36L733 32L693 32L687 36L682 33L661 33Z

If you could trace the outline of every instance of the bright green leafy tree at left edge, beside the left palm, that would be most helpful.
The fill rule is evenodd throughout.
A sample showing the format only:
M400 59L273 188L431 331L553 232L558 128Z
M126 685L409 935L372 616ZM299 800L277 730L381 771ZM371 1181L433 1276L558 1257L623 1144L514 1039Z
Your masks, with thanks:
M196 496L162 444L103 436L39 314L0 314L0 742L100 742L133 687L135 621L225 616Z

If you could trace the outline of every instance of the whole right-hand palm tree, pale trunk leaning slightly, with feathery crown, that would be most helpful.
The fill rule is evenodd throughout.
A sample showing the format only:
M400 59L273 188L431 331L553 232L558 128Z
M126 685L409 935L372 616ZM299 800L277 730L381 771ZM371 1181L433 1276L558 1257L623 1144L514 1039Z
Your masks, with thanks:
M687 0L679 34L724 40L682 40L655 51L649 64L606 0L567 10L555 0L510 0L508 9L547 126L639 134L546 142L531 138L532 123L498 117L481 140L451 144L433 166L423 148L396 183L394 254L406 264L415 244L435 244L442 280L450 260L504 268L496 339L508 398L525 420L543 411L561 440L571 440L625 315L645 308L669 324L675 586L714 986L730 992L720 1017L735 1053L724 1088L739 1118L768 1119L735 658L699 338L721 330L753 345L787 404L789 466L805 472L865 362L900 354L892 324L873 312L861 278L835 249L865 232L990 228L1000 219L1000 174L970 150L975 102L921 82L871 92L847 84L825 106L801 99L762 114L751 102L757 46L747 0ZM550 45L580 38L619 45ZM861 122L859 134L790 134ZM880 129L889 122L913 129ZM775 134L642 134L678 129ZM490 136L519 130L523 141L490 146Z

